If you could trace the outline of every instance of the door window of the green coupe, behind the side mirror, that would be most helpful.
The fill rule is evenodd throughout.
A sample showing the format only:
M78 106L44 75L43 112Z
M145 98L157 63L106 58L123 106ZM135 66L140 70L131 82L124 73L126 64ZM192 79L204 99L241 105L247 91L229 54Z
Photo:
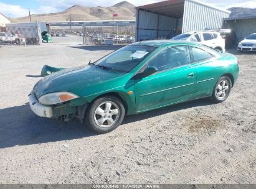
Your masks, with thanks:
M188 47L166 48L147 63L147 67L156 67L158 71L169 70L191 63Z

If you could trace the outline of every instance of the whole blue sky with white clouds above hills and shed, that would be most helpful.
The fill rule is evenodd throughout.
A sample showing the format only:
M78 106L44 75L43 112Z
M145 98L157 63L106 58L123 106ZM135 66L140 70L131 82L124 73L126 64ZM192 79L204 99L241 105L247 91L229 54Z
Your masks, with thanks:
M22 17L31 14L54 13L79 4L82 6L103 6L109 7L123 0L0 0L0 12L7 17ZM135 6L159 2L163 0L127 0ZM229 7L256 8L256 0L201 0L225 9Z

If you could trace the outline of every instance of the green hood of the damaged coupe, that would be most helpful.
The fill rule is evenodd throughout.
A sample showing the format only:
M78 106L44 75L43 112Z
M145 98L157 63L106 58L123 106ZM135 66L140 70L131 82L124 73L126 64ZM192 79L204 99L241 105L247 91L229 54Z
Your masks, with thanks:
M36 83L33 91L36 93L37 98L47 93L59 91L69 91L80 96L82 94L78 93L84 88L96 83L111 81L113 78L118 78L124 74L86 65L85 67L65 69L45 76Z

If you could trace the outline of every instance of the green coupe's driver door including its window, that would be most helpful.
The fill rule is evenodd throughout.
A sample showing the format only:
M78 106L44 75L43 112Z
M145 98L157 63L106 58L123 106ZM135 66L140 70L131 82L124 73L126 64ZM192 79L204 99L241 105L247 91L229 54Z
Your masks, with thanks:
M151 58L146 67L156 67L158 71L135 78L137 112L185 101L191 96L196 85L196 70L187 46L165 48Z

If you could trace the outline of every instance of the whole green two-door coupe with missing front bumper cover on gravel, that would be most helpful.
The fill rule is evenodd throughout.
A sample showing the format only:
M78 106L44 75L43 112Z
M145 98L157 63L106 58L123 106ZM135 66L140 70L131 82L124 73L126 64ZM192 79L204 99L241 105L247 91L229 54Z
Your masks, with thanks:
M78 118L105 133L125 115L206 97L221 103L238 76L239 60L229 53L184 41L143 41L45 76L29 104L38 116Z

